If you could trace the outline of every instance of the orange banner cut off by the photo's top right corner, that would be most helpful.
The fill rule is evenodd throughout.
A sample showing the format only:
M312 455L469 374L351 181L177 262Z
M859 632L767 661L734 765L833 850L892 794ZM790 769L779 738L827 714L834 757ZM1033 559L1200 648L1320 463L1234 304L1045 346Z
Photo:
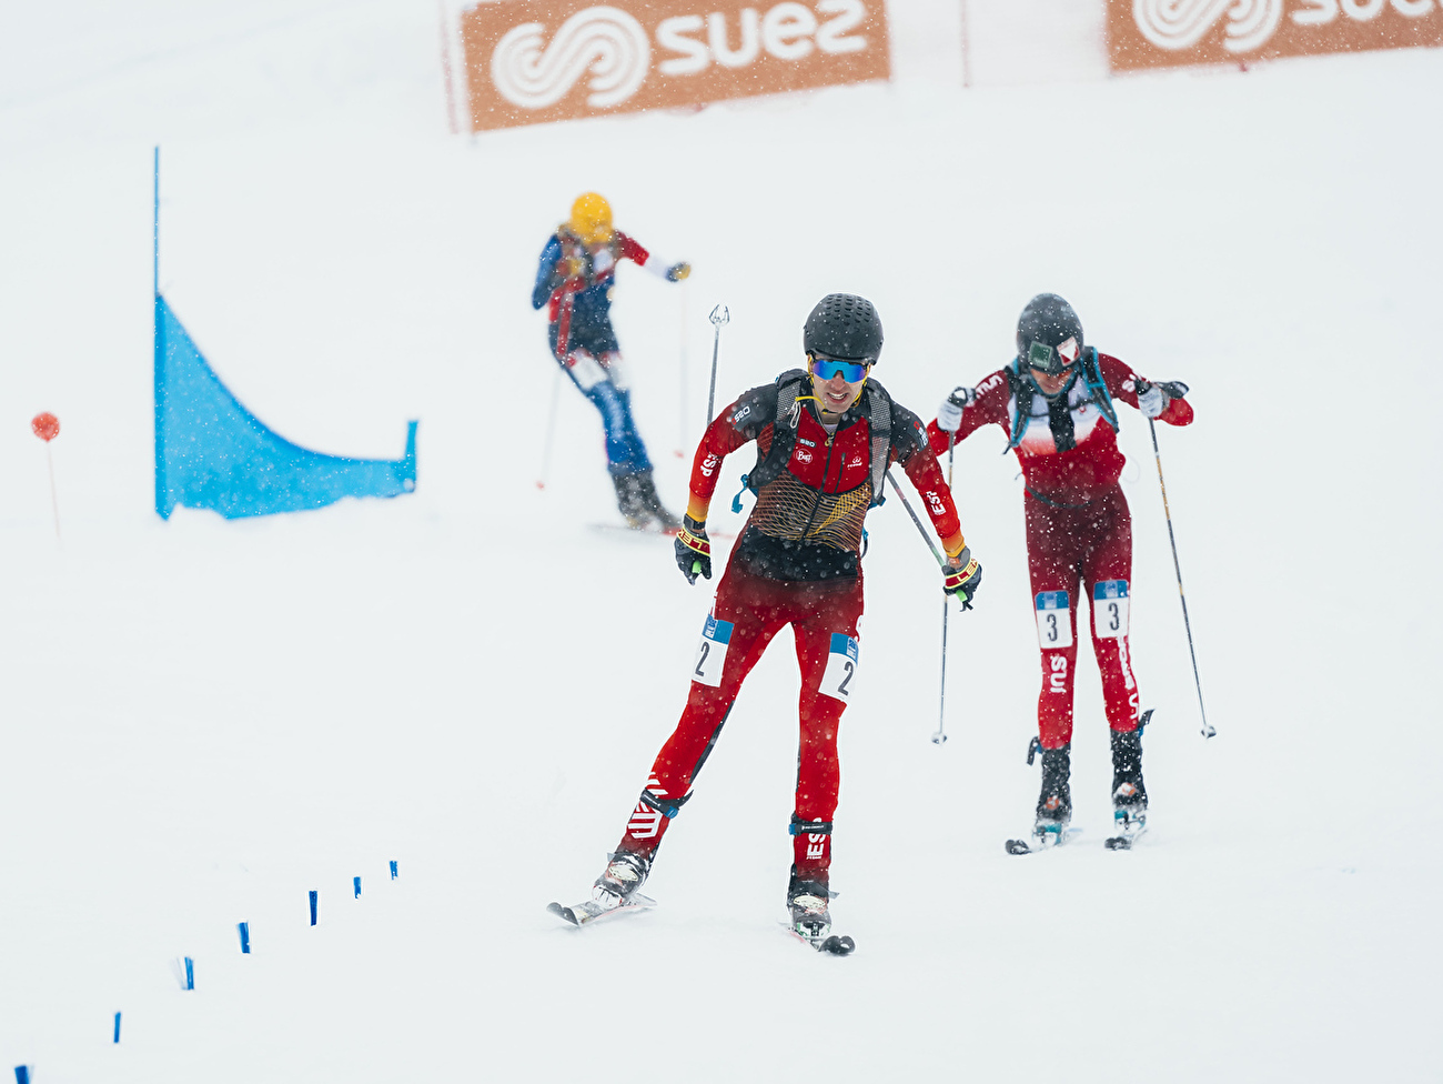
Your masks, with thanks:
M1443 0L1107 0L1113 71L1443 45Z

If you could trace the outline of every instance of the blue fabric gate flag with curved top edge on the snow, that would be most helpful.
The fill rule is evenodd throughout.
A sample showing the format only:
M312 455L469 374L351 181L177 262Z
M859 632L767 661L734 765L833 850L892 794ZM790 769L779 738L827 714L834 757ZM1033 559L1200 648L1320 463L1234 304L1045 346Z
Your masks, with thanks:
M227 520L320 508L416 488L416 421L401 459L310 452L241 406L156 294L156 512L211 508Z

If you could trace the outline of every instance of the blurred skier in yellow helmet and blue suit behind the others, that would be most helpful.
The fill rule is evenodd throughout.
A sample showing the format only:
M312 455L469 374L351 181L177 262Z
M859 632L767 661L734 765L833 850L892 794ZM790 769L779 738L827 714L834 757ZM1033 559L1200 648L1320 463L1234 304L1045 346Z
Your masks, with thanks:
M547 306L551 355L602 414L606 466L626 523L638 530L670 531L681 521L657 495L651 459L632 417L620 344L612 329L610 293L620 260L631 260L668 281L691 274L690 264L658 260L613 228L612 208L603 196L596 192L577 196L571 217L541 250L531 307Z

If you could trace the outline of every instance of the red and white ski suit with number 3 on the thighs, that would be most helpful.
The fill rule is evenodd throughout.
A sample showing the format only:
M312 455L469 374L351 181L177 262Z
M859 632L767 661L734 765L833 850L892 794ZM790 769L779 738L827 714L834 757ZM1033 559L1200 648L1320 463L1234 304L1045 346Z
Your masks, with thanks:
M1136 407L1141 377L1107 354L1098 354L1097 361L1108 397ZM1065 407L1061 395L1049 403L1030 375L1019 375L1013 367L999 370L977 385L977 401L962 411L957 430L957 440L962 440L981 426L997 424L1010 440L1020 394L1026 421L1014 450L1026 484L1027 569L1042 650L1038 735L1045 749L1072 740L1079 582L1091 599L1092 652L1102 673L1108 726L1133 730L1139 713L1127 645L1133 518L1117 484L1124 458L1105 416L1111 403L1088 388L1081 368L1063 393ZM1186 426L1192 407L1175 398L1157 420ZM947 447L948 434L937 421L928 426L928 437L934 450Z

